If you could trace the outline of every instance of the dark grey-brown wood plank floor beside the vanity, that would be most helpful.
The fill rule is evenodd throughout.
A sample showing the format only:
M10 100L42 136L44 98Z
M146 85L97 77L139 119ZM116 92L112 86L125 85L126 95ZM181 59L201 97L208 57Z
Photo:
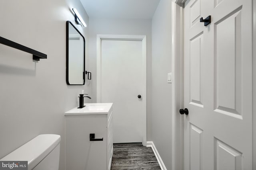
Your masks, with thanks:
M142 143L114 144L111 170L161 170L151 147Z

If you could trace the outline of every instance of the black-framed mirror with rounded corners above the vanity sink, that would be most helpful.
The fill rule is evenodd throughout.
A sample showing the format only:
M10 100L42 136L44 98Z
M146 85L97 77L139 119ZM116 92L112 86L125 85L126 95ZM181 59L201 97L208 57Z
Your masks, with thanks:
M85 39L78 29L66 21L66 82L85 84Z

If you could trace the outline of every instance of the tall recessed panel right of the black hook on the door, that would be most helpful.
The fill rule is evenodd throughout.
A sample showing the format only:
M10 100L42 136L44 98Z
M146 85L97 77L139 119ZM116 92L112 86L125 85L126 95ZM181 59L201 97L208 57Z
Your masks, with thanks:
M242 118L241 9L215 24L216 111ZM232 115L232 114L230 114Z

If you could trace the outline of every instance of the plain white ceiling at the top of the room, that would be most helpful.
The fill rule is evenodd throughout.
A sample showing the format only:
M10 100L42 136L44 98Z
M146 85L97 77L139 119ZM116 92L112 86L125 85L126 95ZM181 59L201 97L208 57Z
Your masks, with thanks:
M89 18L152 19L160 0L80 0Z

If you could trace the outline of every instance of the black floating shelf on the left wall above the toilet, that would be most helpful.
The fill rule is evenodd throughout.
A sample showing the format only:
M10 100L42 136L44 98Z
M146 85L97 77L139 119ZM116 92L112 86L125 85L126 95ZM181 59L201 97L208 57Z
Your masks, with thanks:
M39 61L40 59L47 59L47 55L44 53L40 53L39 51L30 49L28 47L25 47L24 45L20 45L18 43L15 43L13 41L10 41L8 39L5 39L3 37L0 37L0 43L7 45L9 47L21 50L21 51L25 51L27 53L30 53L33 55L33 60Z

